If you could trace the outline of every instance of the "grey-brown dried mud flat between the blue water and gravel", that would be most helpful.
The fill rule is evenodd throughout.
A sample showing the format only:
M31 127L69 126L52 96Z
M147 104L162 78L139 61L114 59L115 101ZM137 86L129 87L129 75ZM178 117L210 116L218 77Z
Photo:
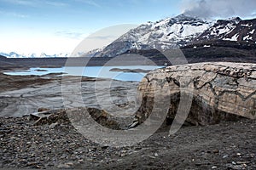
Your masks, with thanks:
M137 84L90 77L63 78L58 74L38 77L0 73L0 115L24 116L38 108L55 110L79 106L103 107L111 111L113 105L134 105L129 100L135 100ZM74 94L74 90L79 94Z

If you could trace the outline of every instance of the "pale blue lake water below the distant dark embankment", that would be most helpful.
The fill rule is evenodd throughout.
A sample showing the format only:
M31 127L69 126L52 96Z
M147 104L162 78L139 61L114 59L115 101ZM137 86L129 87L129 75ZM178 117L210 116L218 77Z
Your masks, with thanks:
M151 71L154 69L161 68L162 66L154 65L133 65L133 66L86 66L86 67L61 67L61 68L30 68L26 71L12 71L4 72L6 75L11 76L44 76L49 73L61 73L65 72L67 76L84 76L84 77L101 77L101 78L111 78L120 81L137 81L140 82L146 73L139 72L121 72L121 71L109 71L113 68L119 69L142 69ZM40 71L38 71L40 70Z

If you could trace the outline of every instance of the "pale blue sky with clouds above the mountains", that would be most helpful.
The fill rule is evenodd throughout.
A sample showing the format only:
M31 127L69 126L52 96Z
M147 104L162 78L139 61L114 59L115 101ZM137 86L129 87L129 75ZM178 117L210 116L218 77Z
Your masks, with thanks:
M241 2L246 3L241 4ZM211 18L240 14L244 18L253 18L256 14L255 2L255 0L0 0L0 52L72 53L79 42L103 28L125 25L127 27L124 31L126 31L147 21L161 20L182 13L206 15ZM246 9L241 8L242 5ZM225 10L226 6L229 6L229 10ZM200 8L206 10L201 11ZM222 9L217 14L214 11L218 8ZM124 32L119 32L122 33Z

